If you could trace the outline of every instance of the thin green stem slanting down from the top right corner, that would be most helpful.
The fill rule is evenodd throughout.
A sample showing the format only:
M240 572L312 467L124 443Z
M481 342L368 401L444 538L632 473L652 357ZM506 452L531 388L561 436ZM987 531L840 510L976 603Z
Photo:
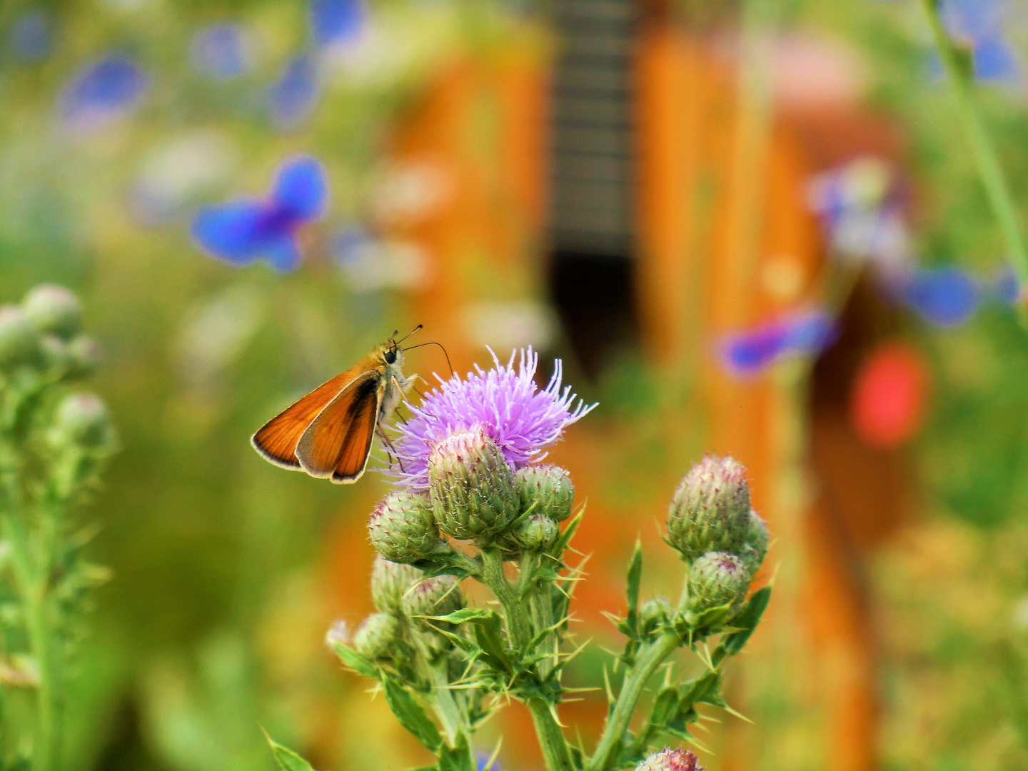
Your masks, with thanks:
M1003 233L1003 240L1006 242L1007 257L1017 273L1020 285L1028 287L1028 249L1025 247L1024 233L1018 222L1014 198L1006 184L1006 178L1003 176L1002 167L999 164L995 148L989 141L985 125L982 123L982 117L975 106L970 80L965 68L961 67L953 41L947 35L942 20L939 17L937 0L921 0L921 5L928 17L928 26L931 28L935 45L939 47L939 56L943 60L950 91L956 103L957 116L963 123L964 133L967 135L967 142L970 144L971 153L978 166L979 178L985 188L986 195L988 195L992 212L999 223L999 229ZM1023 303L1021 306L1024 307Z

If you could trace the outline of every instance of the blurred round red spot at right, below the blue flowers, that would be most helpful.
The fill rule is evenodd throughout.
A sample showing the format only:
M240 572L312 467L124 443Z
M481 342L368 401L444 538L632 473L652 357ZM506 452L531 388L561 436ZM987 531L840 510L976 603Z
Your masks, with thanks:
M853 383L850 419L873 447L888 449L917 433L924 417L928 370L903 342L880 345L864 361Z

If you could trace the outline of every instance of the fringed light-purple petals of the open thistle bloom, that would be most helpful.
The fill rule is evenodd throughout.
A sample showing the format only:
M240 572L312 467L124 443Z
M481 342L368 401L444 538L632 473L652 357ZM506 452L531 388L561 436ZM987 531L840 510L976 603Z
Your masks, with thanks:
M396 454L402 471L394 469L397 483L413 490L429 488L429 455L447 436L480 427L504 453L513 469L539 463L545 447L559 441L565 428L583 417L595 404L586 406L571 386L560 389L562 366L554 361L553 376L540 391L533 377L539 354L531 347L520 352L517 370L511 352L506 366L492 354L488 371L475 365L465 379L440 378L420 407L410 407L413 416L397 426L400 438Z

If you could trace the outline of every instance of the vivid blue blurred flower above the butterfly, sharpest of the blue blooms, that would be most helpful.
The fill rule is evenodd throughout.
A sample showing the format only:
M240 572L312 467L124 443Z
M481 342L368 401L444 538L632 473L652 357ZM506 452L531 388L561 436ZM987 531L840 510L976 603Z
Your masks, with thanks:
M328 176L317 158L302 155L283 163L266 200L238 199L201 209L192 234L200 247L234 265L267 260L278 270L300 263L297 232L324 216Z

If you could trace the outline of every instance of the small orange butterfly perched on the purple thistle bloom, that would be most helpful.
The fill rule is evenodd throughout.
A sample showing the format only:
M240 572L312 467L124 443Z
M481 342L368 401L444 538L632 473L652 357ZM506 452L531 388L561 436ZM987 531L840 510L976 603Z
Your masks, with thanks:
M401 342L396 332L357 366L319 386L253 435L251 442L267 461L284 469L305 471L336 484L352 484L364 474L371 442L417 375L403 374ZM415 346L417 347L417 346Z

